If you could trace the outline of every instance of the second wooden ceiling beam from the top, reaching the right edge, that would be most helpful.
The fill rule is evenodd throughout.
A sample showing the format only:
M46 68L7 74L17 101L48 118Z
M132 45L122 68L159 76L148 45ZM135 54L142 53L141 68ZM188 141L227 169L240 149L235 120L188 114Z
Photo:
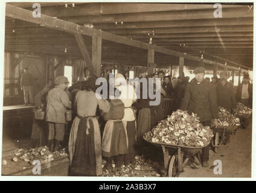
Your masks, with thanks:
M199 7L199 6L198 6ZM127 14L107 14L104 16L75 16L75 17L60 17L65 21L74 22L75 24L103 24L118 22L152 22L152 21L181 21L181 20L196 20L196 19L215 19L214 8L208 10L179 10L165 12L148 12L148 13L127 13ZM242 5L238 8L222 8L222 18L246 18L253 17L253 11L248 12L248 7Z

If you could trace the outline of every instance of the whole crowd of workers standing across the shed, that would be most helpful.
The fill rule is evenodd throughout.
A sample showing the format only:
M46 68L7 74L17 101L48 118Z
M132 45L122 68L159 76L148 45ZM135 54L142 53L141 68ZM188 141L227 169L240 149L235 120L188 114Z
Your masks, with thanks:
M203 125L211 126L213 120L215 127L218 126L218 106L229 112L235 109L237 101L251 106L252 84L248 74L244 75L235 97L234 86L227 81L225 71L220 72L220 78L213 82L205 80L205 69L202 67L196 68L193 73L195 78L190 82L184 75L176 81L174 77L165 76L163 71L148 76L147 69L140 68L139 78L161 78L161 103L164 97L173 97L176 104L174 110L197 113ZM164 119L161 103L150 106L152 99L136 96L135 87L120 84L117 78L126 81L126 77L115 75L114 89L119 90L120 95L107 99L96 92L96 76L69 88L68 78L57 77L54 84L49 83L34 97L36 109L45 108L45 120L34 119L31 134L33 146L43 145L41 139L48 133L48 147L51 151L60 151L65 136L68 136L70 176L100 176L102 156L106 160L106 169L112 169L113 161L115 169L132 162L138 153L136 148L144 145L144 133ZM71 122L65 118L68 109L73 112ZM208 159L209 147L205 147L202 150L202 166L208 166Z

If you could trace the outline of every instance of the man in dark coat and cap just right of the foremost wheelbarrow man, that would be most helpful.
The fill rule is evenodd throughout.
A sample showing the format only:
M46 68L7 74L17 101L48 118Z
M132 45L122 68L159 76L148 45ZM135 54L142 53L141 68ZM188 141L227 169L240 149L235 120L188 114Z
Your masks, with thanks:
M234 87L227 79L228 73L226 71L220 72L220 81L216 84L217 105L231 112L237 107L237 100L235 99Z

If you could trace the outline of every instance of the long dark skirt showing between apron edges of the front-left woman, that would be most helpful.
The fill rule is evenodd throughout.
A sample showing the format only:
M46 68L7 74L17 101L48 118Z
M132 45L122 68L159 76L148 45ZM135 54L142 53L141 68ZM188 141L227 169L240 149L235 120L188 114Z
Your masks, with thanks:
M88 120L89 128L86 121L86 119L80 119L78 124L75 150L72 155L69 176L97 176L97 162L101 162L101 154L98 155L97 153L95 138L100 138L100 136L95 136L95 128L92 120ZM97 135L99 135L99 128L96 129L98 130Z

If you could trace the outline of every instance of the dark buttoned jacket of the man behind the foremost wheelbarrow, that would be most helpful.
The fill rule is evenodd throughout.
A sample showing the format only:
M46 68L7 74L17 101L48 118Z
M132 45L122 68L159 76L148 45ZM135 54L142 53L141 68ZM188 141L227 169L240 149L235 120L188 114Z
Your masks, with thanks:
M196 80L190 81L180 109L196 113L200 117L200 122L218 118L216 87L205 80L200 84L197 84Z

